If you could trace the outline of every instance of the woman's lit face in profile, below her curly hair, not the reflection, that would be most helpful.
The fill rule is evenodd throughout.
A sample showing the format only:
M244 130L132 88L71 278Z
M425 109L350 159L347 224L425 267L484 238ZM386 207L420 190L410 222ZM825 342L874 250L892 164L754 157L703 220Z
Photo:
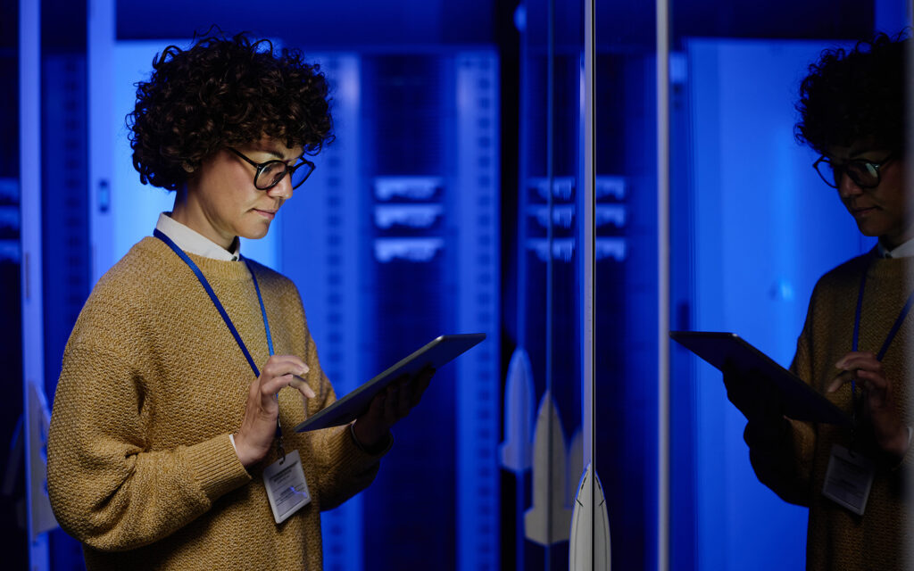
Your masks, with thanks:
M289 148L268 137L237 150L255 163L278 159L289 165L303 153L302 147ZM272 188L259 190L254 186L256 172L228 149L218 151L187 181L186 204L176 219L223 248L229 248L236 236L263 238L282 203L292 196L292 183L284 176Z

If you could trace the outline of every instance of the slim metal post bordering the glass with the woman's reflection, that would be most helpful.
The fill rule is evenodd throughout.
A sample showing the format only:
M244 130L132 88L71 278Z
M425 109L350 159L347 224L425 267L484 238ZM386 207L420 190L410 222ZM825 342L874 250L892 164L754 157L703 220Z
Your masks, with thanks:
M657 40L657 569L669 568L670 0L656 0Z

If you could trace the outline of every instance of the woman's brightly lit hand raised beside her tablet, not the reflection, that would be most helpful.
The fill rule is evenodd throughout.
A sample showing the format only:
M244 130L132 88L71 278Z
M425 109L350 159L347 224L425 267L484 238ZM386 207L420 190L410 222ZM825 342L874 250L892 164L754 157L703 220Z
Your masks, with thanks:
M314 398L314 390L303 380L308 365L295 355L274 354L260 369L260 376L250 383L241 428L235 433L235 451L245 468L267 455L276 435L276 418L280 405L276 394L283 386L292 386L304 398Z

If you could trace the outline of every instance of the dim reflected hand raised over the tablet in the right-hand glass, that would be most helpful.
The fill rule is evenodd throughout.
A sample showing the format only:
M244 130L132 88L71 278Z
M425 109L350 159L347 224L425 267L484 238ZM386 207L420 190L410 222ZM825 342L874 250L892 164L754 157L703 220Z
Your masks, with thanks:
M904 456L909 447L909 429L898 416L892 382L886 377L876 354L848 353L834 366L842 372L834 377L828 392L834 393L840 386L855 380L864 399L864 415L873 425L877 444L891 454Z

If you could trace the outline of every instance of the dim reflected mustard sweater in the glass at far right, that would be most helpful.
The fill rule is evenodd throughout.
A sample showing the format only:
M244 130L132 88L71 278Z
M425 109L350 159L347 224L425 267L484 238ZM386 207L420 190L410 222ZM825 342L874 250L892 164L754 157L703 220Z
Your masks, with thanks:
M878 353L909 293L914 290L912 259L878 259L875 252L851 259L816 284L792 370L825 392L838 374L834 364L852 348L857 292L867 272L859 350ZM893 383L902 421L912 424L908 399L912 381L911 343L914 315L909 315L889 345L882 365ZM826 395L848 414L851 386ZM859 397L859 387L858 387ZM877 449L866 427L863 451L877 463L866 513L856 515L822 495L825 470L834 443L848 447L850 434L834 425L792 421L780 442L755 442L747 430L749 457L760 481L787 502L809 506L806 546L808 569L907 568L904 555L909 509L903 489L914 452L899 463Z

